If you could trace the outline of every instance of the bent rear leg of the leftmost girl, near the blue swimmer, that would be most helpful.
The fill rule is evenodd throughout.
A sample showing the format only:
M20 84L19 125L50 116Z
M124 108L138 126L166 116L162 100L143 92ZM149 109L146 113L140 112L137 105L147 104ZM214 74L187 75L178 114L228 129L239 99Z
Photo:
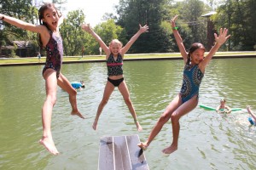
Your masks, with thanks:
M69 102L72 107L71 115L76 115L84 119L84 116L79 112L77 105L77 91L72 87L67 78L60 73L58 85L69 94Z

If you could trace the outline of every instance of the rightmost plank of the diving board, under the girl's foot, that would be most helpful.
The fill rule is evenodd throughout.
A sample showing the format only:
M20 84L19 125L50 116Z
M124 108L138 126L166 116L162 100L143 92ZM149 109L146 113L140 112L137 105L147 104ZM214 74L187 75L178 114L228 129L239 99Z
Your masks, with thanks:
M149 170L148 162L141 148L137 146L140 143L139 136L137 134L126 136L128 150L131 158L131 167L136 170Z

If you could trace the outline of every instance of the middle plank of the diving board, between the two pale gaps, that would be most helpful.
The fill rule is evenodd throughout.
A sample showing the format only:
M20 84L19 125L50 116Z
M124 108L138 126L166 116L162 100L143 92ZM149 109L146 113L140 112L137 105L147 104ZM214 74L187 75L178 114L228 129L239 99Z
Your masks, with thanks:
M131 161L125 136L113 137L114 164L116 170L130 170Z

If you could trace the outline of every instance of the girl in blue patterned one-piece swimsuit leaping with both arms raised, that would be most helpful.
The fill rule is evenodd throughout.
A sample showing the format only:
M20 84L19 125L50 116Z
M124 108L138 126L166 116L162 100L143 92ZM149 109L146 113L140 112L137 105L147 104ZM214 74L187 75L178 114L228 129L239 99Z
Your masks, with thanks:
M214 34L216 43L205 58L205 48L201 43L193 43L191 48L189 48L189 52L187 53L183 46L183 40L177 31L177 27L175 26L175 20L177 20L177 15L172 19L171 24L172 31L177 42L177 47L182 54L185 64L183 70L183 85L180 93L177 94L172 102L166 107L166 111L164 111L158 122L156 122L156 125L149 134L146 142L137 144L143 150L146 150L154 137L160 133L160 130L164 124L171 118L173 139L172 144L166 147L166 149L162 150L164 154L171 154L173 151L177 150L177 140L180 129L179 119L188 114L189 111L195 109L196 105L198 104L199 87L205 73L205 68L212 59L213 54L215 54L215 52L218 51L218 48L220 48L220 46L230 37L230 35L227 36L228 30L221 28L219 31L219 36Z

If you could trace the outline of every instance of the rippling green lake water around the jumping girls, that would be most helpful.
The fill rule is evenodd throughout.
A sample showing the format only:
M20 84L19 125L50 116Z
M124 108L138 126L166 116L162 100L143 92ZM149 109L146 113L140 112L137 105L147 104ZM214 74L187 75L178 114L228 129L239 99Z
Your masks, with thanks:
M201 83L200 104L216 107L219 99L242 108L230 115L196 108L183 116L178 150L162 156L171 144L171 122L166 123L145 155L150 169L255 169L256 128L247 122L247 105L256 112L256 59L213 59ZM58 89L52 132L60 156L50 156L38 144L42 135L43 66L0 67L0 169L97 169L102 136L137 133L118 90L102 111L98 130L91 127L107 81L105 63L63 65L70 82L84 80L78 92L85 120L70 116L67 93ZM125 61L125 81L137 111L142 140L179 92L182 60Z

